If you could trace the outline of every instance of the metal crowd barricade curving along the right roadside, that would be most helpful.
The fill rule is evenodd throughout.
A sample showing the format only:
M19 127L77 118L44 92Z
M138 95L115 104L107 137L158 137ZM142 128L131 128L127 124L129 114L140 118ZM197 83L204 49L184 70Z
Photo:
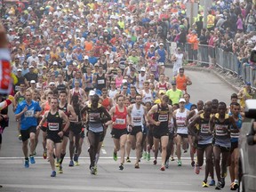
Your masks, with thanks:
M235 53L225 52L220 47L213 47L206 44L179 44L166 42L168 59L171 59L177 48L184 52L185 60L201 67L211 67L217 65L223 70L236 74L244 82L251 82L255 89L256 68L252 68L245 60L240 60Z

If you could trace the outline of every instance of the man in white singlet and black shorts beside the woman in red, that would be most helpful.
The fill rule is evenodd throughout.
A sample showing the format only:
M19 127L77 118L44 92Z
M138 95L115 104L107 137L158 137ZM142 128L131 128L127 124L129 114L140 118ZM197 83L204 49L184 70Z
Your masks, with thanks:
M136 149L135 169L140 169L140 153L142 143L142 132L144 131L144 121L147 114L147 108L141 104L141 95L136 96L134 104L128 107L128 131L130 132L132 150ZM148 123L147 123L148 124ZM129 156L127 156L129 158ZM127 161L127 159L126 159Z

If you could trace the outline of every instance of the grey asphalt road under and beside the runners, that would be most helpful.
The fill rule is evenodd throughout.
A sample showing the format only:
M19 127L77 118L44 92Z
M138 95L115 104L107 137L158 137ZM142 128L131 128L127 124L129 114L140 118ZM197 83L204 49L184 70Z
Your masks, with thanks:
M171 74L167 69L166 74ZM230 95L234 92L228 84L210 73L185 71L192 80L188 87L191 94L191 102L197 100L218 99L229 104ZM89 172L88 145L84 140L83 152L79 160L80 165L68 167L68 151L63 163L63 174L51 178L51 168L47 160L42 157L40 134L39 144L36 148L36 164L30 164L28 169L24 168L24 157L21 151L21 141L17 137L17 125L10 111L10 127L4 130L2 149L0 150L0 191L173 191L173 192L198 192L213 191L211 188L202 188L204 179L204 167L199 175L188 160L188 154L182 156L182 166L177 162L171 162L169 169L165 172L159 170L160 164L153 165L153 160L141 160L140 169L134 169L134 158L131 164L124 164L124 170L119 171L119 159L115 162L112 158L113 141L108 131L101 149L98 164L98 174L91 175ZM153 154L151 154L152 156ZM134 152L132 152L134 157ZM160 162L160 159L158 160ZM209 180L210 181L210 180ZM227 186L222 191L229 191L229 177Z

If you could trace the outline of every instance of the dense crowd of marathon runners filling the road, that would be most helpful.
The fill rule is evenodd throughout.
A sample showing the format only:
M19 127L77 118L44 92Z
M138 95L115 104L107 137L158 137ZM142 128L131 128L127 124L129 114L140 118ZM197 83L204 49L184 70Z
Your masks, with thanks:
M16 81L13 111L26 168L36 163L36 148L41 148L38 137L43 137L42 156L51 164L51 177L56 176L56 167L63 173L67 151L68 166L79 165L84 141L89 147L90 172L97 174L100 148L109 129L113 159L120 156L121 171L124 164L131 163L131 150L136 151L136 169L140 169L141 158L157 164L161 153L161 171L176 156L182 166L181 156L189 151L196 174L206 159L203 188L215 186L214 168L216 189L224 188L228 166L230 188L238 188L238 137L244 100L252 98L251 83L228 96L227 104L214 98L190 103L187 86L192 81L182 68L184 44L188 40L195 49L203 40L212 46L219 41L223 45L217 35L224 27L215 26L218 17L224 17L221 12L229 13L224 5L232 10L251 4L249 12L244 10L244 19L255 10L251 1L232 4L220 0L209 10L207 28L201 31L198 20L189 27L186 2L34 0L4 7L2 21L8 31ZM232 26L225 35L231 38L236 35L233 29L238 29L243 36L248 32L250 39L255 21L249 24L242 29ZM181 41L184 35L186 42ZM167 39L178 42L170 60ZM172 75L165 70L170 63ZM2 110L2 132L7 117Z

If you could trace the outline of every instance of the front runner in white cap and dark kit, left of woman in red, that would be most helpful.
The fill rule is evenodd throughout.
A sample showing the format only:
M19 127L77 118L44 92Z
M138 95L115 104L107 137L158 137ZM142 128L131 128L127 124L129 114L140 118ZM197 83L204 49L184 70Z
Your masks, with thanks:
M96 154L98 152L101 137L104 135L104 124L111 120L106 108L99 104L100 97L96 94L92 96L92 104L85 106L81 114L85 117L88 125L88 140L90 144L90 171L91 174L97 174L97 164L95 164Z

